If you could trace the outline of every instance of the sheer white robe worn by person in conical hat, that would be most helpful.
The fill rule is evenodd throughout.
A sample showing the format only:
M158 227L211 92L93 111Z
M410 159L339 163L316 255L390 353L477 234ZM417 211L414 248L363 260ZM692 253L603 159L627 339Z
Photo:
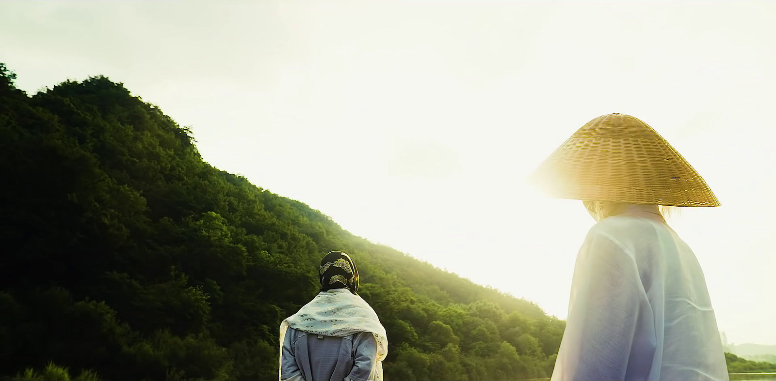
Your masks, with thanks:
M728 381L701 266L650 211L631 205L588 232L553 381Z

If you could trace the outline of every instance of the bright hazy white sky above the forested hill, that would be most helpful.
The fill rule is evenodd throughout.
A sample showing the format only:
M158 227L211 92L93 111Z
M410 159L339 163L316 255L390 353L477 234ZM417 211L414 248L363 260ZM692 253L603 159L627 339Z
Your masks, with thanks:
M121 81L214 166L560 318L594 221L525 178L634 115L722 202L669 221L719 328L776 344L774 4L6 0L0 62Z

